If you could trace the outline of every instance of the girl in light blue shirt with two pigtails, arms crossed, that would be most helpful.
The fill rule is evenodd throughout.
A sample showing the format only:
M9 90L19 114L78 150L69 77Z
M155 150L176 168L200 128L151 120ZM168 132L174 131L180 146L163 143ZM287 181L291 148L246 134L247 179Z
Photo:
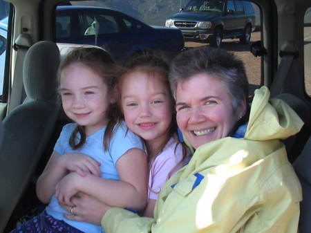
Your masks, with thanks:
M75 214L70 198L79 193L117 207L145 207L147 156L141 139L119 120L114 71L100 48L76 48L60 65L62 106L75 123L62 129L37 181L37 196L48 206L12 232L101 232L100 225L64 218Z

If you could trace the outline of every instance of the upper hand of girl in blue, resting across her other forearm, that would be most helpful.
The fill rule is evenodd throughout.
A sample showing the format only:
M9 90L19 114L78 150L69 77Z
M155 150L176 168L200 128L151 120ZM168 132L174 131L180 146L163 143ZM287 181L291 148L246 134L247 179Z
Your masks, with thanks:
M59 159L68 171L75 171L80 176L85 176L86 173L101 176L100 162L83 153L65 153Z

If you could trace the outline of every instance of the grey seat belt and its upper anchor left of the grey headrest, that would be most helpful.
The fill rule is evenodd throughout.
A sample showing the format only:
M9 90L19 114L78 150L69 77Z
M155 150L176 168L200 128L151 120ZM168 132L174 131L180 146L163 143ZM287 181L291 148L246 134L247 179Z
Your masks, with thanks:
M15 40L13 48L17 51L17 55L15 60L14 80L8 102L8 113L19 106L26 97L25 89L23 88L23 58L32 44L32 38L27 33L22 33Z

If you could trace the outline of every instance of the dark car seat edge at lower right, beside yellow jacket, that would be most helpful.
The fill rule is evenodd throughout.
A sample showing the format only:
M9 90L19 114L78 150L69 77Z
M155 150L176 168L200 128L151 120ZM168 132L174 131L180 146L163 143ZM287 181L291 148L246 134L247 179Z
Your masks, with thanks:
M300 204L299 233L311 232L311 137L303 147L300 156L293 166L298 175L303 191L303 201Z

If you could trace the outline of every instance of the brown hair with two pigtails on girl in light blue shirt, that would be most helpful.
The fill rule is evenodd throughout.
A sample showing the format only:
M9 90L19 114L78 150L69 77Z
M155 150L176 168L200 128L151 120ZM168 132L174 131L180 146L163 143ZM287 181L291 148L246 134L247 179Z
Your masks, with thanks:
M66 55L64 60L62 60L61 64L59 65L59 70L57 74L58 84L60 84L61 74L62 71L64 71L64 68L76 62L84 64L84 66L90 68L93 72L97 73L97 75L100 75L104 84L106 84L107 86L107 90L113 91L117 81L115 61L113 60L111 55L109 55L109 53L107 53L104 49L96 47L79 47L70 50L70 52ZM110 104L109 109L107 109L106 112L108 124L106 125L106 131L104 133L103 141L105 150L107 150L109 147L109 142L111 140L115 124L117 124L117 122L119 122L121 118L121 113L116 103ZM78 133L80 135L80 140L76 143L75 138L77 138ZM79 147L82 147L85 142L85 127L77 125L72 135L70 136L69 145L73 149L77 149Z

